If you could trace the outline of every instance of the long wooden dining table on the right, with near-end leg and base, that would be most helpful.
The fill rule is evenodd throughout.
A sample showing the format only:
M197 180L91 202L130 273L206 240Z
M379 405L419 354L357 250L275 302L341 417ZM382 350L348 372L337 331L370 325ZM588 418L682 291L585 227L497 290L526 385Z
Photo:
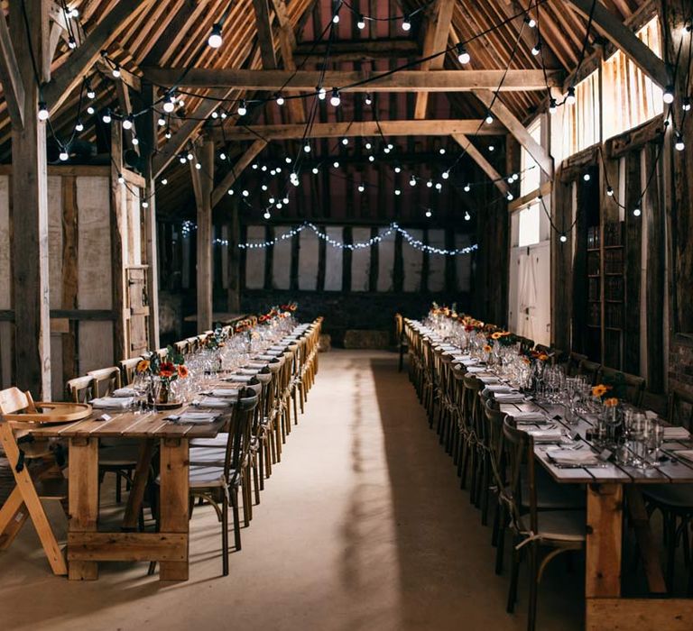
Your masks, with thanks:
M571 432L577 432L578 440L589 444L586 436L591 423L587 418L581 417L577 424L568 425L559 417L562 410L559 406L537 406L534 403L501 405L501 410L511 416L513 412L537 409L546 411L557 424L565 425ZM599 467L560 468L550 462L546 454L548 446L550 445L536 444L534 453L551 477L559 483L580 483L587 486L587 631L636 628L689 631L693 628L693 599L665 598L667 588L661 572L658 545L651 532L641 492L642 486L647 484L693 483L693 462L676 456L675 452L691 448L693 442L665 443L663 451L669 460L645 470L613 462L605 462ZM596 449L595 451L598 452ZM654 598L622 597L624 498Z

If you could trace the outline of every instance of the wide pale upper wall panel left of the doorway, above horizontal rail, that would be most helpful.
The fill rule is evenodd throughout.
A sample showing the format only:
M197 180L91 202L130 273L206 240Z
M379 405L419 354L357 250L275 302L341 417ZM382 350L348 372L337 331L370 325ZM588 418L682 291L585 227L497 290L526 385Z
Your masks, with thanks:
M79 308L110 309L111 204L108 178L77 178L77 207Z

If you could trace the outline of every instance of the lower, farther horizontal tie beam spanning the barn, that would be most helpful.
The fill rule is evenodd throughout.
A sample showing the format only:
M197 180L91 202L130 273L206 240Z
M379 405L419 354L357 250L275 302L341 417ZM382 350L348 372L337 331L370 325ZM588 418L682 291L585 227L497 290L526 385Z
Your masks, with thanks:
M215 130L217 140L229 142L255 140L285 141L297 138L356 138L359 136L448 136L453 133L499 135L505 128L499 123L487 125L480 120L430 120L430 121L363 121L351 123L313 123L306 133L304 124L236 125L222 134Z

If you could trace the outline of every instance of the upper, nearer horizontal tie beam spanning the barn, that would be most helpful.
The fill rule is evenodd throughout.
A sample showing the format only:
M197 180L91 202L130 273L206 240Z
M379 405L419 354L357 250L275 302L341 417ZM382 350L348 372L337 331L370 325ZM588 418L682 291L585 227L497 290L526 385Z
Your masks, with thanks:
M337 86L344 92L466 92L496 89L505 75L502 90L545 90L541 70L402 70L393 75L382 72L328 70L245 70L190 69L184 75L180 68L143 69L144 76L162 86L236 87L240 90L282 90L284 92L314 92L319 84ZM560 73L548 71L550 86L560 85ZM184 76L183 76L184 75ZM181 78L182 77L182 78ZM368 80L355 87L344 87Z

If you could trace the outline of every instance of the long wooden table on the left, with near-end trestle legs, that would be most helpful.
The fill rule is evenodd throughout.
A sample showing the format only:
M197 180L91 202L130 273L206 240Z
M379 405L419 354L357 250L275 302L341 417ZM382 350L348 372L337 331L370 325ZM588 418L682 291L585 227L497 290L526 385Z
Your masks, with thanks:
M217 410L218 411L218 410ZM105 411L69 425L30 429L39 438L69 440L68 576L72 581L95 580L99 561L157 561L162 581L187 581L189 569L189 440L213 438L227 416L208 425L178 425L166 413L135 415ZM179 411L175 412L176 414ZM142 440L125 520L120 532L98 531L98 443L102 438ZM152 453L159 443L160 531L131 532L142 505Z

